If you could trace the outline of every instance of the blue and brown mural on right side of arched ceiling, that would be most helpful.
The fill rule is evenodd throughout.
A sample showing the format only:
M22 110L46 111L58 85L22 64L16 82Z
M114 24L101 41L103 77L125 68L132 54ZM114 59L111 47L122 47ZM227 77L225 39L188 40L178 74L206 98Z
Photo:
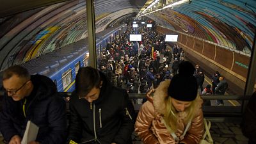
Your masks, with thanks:
M256 31L255 12L255 0L191 0L146 16L177 33L203 38L250 56Z

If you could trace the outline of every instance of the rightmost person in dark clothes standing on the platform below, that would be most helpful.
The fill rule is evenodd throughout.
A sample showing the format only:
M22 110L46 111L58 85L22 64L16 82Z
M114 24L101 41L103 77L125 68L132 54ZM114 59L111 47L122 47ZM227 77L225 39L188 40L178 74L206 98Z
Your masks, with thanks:
M215 93L216 95L225 95L225 92L228 88L228 83L227 81L225 81L224 77L220 76L219 78L220 83L218 84L218 86L216 87ZM217 104L218 106L223 106L223 100L217 100Z

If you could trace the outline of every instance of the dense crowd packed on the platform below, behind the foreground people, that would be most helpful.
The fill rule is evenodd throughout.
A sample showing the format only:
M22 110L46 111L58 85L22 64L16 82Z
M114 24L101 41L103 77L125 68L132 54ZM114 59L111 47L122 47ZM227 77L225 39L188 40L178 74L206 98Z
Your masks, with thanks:
M129 34L136 33L143 35L141 42L129 41ZM153 29L128 26L102 51L99 70L115 86L126 88L129 93L146 93L161 81L172 79L184 60L182 48L179 45L166 48L164 37Z

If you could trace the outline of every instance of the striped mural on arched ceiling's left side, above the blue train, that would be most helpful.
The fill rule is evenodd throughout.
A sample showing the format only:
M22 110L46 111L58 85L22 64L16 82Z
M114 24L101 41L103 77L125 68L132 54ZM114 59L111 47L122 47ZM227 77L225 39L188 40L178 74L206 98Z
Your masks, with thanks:
M138 13L140 9L132 3L129 0L96 0L96 32L104 30L115 19ZM87 36L86 4L79 0L19 13L5 17L0 22L0 28L4 29L0 33L1 69Z

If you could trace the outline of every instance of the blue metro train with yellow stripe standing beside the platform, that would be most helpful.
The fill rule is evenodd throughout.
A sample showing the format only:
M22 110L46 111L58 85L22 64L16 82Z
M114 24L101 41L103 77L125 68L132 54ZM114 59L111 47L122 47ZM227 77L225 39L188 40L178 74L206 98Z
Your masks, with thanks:
M116 36L124 33L125 24L109 28L96 34L97 59L100 51L106 48ZM21 66L29 70L30 74L42 74L54 81L58 92L72 92L75 89L75 79L80 67L88 65L88 41L87 38L74 44L61 47L38 58L22 63Z

